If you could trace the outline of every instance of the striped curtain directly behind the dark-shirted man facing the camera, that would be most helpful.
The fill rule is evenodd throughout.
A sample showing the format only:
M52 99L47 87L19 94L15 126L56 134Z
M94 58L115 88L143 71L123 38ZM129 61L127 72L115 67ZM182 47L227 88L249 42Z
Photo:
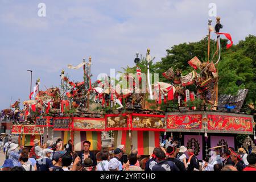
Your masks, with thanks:
M75 151L84 150L82 143L90 141L90 150L101 150L101 132L100 131L74 131Z

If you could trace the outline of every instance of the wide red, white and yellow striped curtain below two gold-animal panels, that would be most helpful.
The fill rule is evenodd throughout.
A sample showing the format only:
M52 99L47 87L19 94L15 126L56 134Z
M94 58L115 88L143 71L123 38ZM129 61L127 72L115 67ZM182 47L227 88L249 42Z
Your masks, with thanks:
M131 140L129 131L114 131L114 146L119 144L125 146L127 154L131 153L131 148L138 149L139 155L151 155L155 147L159 147L159 131L131 131Z

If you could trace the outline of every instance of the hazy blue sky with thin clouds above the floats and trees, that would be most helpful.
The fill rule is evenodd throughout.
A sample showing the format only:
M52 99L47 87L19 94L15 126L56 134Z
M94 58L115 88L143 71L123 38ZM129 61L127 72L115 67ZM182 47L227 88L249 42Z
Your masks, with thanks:
M38 4L46 4L46 17L38 16ZM30 73L33 82L60 85L60 72L82 81L82 69L68 70L92 56L93 80L110 68L134 65L135 52L151 49L155 61L166 49L195 42L207 35L209 3L236 44L255 35L255 1L13 1L0 0L0 109L20 98L28 100ZM213 25L215 24L215 18Z

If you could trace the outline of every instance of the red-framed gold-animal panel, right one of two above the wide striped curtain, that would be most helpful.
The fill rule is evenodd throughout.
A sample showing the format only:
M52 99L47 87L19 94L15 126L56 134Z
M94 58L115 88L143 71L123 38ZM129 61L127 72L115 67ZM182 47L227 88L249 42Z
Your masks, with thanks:
M131 130L164 131L165 115L131 114Z

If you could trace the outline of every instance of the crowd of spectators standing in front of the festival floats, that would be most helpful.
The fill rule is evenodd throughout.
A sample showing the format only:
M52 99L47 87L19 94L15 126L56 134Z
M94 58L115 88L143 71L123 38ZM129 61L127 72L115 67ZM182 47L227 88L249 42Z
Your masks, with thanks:
M256 171L256 154L237 152L229 147L221 154L220 147L213 147L209 159L199 162L192 148L172 143L166 148L155 147L152 154L141 156L136 149L126 154L125 146L113 151L102 150L94 154L91 143L82 143L83 150L72 150L72 141L63 144L48 140L40 146L34 140L32 148L23 147L8 139L4 147L6 160L2 171Z

